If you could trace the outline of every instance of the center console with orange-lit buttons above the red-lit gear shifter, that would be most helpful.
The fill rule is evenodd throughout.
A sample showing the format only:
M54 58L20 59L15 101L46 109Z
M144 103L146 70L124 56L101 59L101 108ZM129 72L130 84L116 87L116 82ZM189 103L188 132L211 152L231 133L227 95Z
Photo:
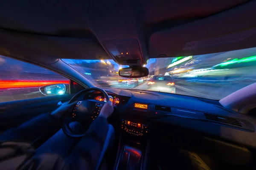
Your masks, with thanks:
M148 123L137 119L121 120L121 140L116 170L142 170L146 160Z

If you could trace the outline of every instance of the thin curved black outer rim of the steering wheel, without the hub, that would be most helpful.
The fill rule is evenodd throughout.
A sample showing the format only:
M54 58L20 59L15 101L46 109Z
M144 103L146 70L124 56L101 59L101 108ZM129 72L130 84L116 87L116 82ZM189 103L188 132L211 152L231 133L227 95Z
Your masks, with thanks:
M70 99L70 101L68 102L68 104L77 101L77 99L79 98L79 96L83 95L84 93L86 93L86 92L88 92L88 91L93 91L93 90L94 90L94 91L102 92L103 95L104 95L105 98L106 98L106 101L107 101L107 102L109 101L109 96L108 96L108 94L107 94L106 91L104 91L104 90L101 89L101 88L93 87L93 88L87 88L87 89L84 89L84 90L82 90L82 91L79 91L77 94L75 94L75 96L73 96L73 97ZM103 105L104 105L104 104L103 104ZM66 118L67 118L67 115L64 114L63 117L62 117L62 130L63 130L63 132L64 132L67 136L69 136L69 137L71 137L71 138L79 138L79 137L82 137L82 136L85 135L85 133L84 133L84 134L75 134L75 133L73 133L73 130L72 130L72 129L70 128L70 126L69 126L70 121L65 122ZM72 121L71 121L71 122L72 122Z

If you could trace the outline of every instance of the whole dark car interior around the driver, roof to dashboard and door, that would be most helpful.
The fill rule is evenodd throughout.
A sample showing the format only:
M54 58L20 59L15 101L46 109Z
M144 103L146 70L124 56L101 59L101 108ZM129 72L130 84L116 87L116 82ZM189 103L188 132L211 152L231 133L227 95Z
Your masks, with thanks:
M111 100L108 122L115 140L105 153L108 169L255 170L256 84L221 100L96 88L63 61L113 59L141 73L133 77L121 70L122 77L139 78L148 75L140 69L151 58L253 48L255 7L255 0L1 2L0 55L54 71L69 86L63 87L65 95L0 102L0 133L67 101L90 104L84 117L89 127L104 101ZM82 115L80 104L70 118ZM66 127L56 125L30 142L37 148L61 128ZM66 133L74 137L68 128Z

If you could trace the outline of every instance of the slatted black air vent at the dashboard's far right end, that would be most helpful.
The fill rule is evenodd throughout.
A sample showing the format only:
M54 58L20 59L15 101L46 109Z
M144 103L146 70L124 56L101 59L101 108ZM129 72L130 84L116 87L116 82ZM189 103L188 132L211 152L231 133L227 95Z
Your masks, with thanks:
M218 115L208 114L208 113L204 113L204 116L208 120L213 120L213 121L216 121L216 122L221 122L221 123L226 123L226 124L229 124L229 125L234 125L234 126L241 127L241 124L234 118L218 116Z

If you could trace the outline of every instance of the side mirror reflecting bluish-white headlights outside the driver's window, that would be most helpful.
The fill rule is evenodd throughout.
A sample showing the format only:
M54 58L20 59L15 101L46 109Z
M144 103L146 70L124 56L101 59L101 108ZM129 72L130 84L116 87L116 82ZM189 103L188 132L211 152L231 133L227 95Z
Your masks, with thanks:
M45 85L39 88L40 92L46 96L63 95L67 89L65 84Z

